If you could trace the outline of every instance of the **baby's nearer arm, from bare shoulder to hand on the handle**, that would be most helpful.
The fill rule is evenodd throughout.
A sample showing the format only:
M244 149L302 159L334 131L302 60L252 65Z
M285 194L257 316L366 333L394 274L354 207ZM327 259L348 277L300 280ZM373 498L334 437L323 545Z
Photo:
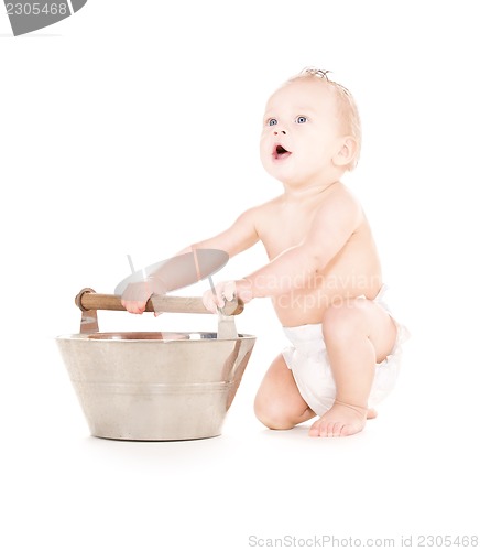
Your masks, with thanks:
M222 306L221 296L232 292L244 302L260 296L279 296L293 287L305 288L321 276L328 263L343 248L362 220L360 205L349 195L337 195L321 205L303 241L286 249L266 266L246 278L217 288L217 301L207 292L204 302L214 310Z

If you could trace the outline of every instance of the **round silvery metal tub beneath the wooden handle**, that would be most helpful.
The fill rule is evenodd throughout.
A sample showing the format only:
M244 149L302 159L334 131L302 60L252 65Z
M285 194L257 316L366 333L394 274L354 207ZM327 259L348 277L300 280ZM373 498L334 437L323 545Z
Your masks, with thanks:
M94 436L171 441L221 434L255 337L90 327L56 343Z

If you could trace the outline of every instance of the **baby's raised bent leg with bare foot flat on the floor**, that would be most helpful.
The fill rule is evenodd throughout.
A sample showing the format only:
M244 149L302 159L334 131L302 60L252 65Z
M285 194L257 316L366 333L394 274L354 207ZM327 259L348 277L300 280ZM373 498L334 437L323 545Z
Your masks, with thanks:
M396 326L390 315L367 299L346 301L325 314L323 331L337 396L334 406L310 428L310 436L348 436L374 417L368 399L375 364L392 350ZM370 414L369 414L370 413Z

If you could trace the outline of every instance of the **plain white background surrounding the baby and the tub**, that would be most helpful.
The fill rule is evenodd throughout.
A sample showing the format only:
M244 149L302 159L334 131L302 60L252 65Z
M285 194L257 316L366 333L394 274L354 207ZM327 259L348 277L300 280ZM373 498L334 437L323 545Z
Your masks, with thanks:
M19 37L2 9L2 549L236 551L315 536L415 548L478 533L476 4L90 0ZM112 292L127 253L161 260L280 193L259 161L261 117L307 65L360 107L346 183L413 335L395 393L351 439L264 430L253 397L285 342L259 301L238 318L258 343L222 436L89 436L54 338L78 331L75 294ZM264 259L255 247L223 276ZM100 324L215 329L174 314Z

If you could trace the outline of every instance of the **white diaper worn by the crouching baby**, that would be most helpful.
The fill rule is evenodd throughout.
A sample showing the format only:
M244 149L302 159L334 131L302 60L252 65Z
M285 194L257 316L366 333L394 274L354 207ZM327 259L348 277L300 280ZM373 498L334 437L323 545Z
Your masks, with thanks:
M384 303L384 293L385 287L382 287L374 302L381 304L390 313ZM369 408L375 407L392 391L399 376L401 345L407 338L408 333L403 325L397 322L395 324L396 343L391 354L381 364L377 364ZM284 327L283 329L293 345L283 350L285 363L292 369L302 398L317 415L323 415L334 404L337 391L321 324Z

